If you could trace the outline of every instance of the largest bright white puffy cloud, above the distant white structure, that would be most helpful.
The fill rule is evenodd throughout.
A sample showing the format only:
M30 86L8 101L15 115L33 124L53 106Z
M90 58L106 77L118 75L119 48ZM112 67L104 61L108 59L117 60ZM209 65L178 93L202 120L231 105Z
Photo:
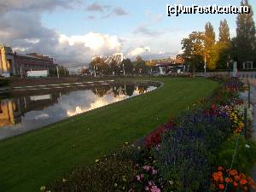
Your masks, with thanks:
M89 63L93 55L113 55L119 49L119 38L116 36L96 32L70 37L61 34L55 46L55 54L60 58L59 61L75 66Z

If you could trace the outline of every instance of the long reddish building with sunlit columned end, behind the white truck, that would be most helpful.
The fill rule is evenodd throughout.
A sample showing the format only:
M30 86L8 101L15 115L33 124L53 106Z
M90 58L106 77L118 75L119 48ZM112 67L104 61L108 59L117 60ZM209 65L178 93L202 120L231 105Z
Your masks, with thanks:
M10 47L0 44L0 74L4 77L26 76L27 71L54 70L56 66L49 56L37 53L18 54Z

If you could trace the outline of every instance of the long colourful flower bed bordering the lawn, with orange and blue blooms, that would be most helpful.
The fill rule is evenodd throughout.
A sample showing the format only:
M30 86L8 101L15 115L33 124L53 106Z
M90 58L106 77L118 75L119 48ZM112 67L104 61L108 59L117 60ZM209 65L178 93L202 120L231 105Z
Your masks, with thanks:
M158 127L144 146L126 143L42 191L249 191L254 183L245 173L256 160L256 144L242 136L247 106L238 98L242 86L237 79L224 80L200 108L195 103L196 109ZM247 116L252 121L252 111Z

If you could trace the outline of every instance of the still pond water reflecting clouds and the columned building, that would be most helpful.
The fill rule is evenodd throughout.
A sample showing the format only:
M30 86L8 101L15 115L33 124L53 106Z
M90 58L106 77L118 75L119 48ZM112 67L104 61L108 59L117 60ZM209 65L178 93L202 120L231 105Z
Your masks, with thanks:
M16 92L14 97L0 99L0 140L155 88L130 83Z

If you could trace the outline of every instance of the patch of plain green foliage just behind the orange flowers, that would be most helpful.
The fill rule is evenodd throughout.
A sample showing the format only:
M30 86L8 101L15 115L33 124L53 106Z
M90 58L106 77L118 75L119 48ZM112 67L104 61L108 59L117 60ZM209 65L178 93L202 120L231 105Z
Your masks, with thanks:
M216 155L216 165L230 167L236 148L237 137L237 135L232 136L220 145L218 148L218 154ZM239 137L233 168L236 168L239 172L246 172L250 174L255 160L256 143L253 142L253 140L246 141L242 136Z

